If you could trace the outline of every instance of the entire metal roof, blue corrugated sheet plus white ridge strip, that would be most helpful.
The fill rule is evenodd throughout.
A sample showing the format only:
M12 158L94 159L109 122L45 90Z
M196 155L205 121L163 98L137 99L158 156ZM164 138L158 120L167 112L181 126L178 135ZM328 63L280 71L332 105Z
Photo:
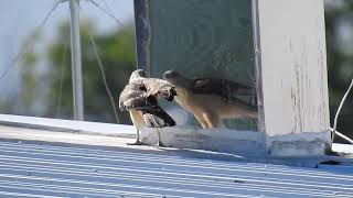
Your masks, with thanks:
M0 114L0 197L353 195L351 158L330 156L324 160L342 163L318 165L322 158L127 146L133 138L128 125Z

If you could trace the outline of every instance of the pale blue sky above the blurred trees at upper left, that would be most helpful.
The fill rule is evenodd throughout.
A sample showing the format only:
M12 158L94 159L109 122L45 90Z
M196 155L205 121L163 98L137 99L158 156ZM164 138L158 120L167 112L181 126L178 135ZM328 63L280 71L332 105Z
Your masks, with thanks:
M132 0L94 0L110 12L119 21L133 18ZM20 46L36 26L41 24L45 15L53 8L54 0L1 0L0 1L0 75L4 67L13 65L13 59L19 53ZM55 37L56 26L64 20L68 20L68 2L60 3L54 10L45 26L41 43L47 44ZM108 16L89 0L81 0L81 19L89 18L98 24L98 32L117 29L116 21ZM11 66L13 67L13 66ZM0 90L9 92L18 82L17 67L10 69L4 79L0 79ZM7 84L3 82L7 81ZM12 85L12 86L9 86Z

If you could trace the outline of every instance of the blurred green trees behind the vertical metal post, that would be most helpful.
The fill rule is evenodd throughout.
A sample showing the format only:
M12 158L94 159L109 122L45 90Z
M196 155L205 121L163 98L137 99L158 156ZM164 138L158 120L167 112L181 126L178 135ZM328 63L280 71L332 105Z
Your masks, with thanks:
M136 68L133 23L130 21L118 30L98 34L90 21L81 24L81 45L84 86L85 120L98 122L116 122L114 109L107 95L98 62L89 35L94 36L99 57L105 66L108 87L118 105L118 97L128 81L130 73ZM45 79L49 91L45 95L44 117L73 119L73 88L71 70L71 45L68 23L58 26L57 36L45 47L47 69ZM26 54L26 59L34 59L35 54ZM33 57L32 57L33 56ZM26 66L26 65L25 65ZM33 105L33 84L39 84L33 70L22 72L22 88L25 98L24 106ZM38 85L36 85L38 86ZM35 95L35 94L34 94ZM129 123L126 112L118 111L120 123Z

